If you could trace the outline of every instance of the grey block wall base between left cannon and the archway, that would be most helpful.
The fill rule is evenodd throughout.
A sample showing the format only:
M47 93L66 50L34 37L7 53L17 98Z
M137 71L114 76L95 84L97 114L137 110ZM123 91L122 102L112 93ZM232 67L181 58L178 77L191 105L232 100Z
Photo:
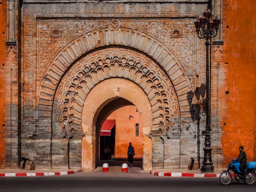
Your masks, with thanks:
M22 139L21 148L22 156L34 161L38 169L81 168L81 140Z

